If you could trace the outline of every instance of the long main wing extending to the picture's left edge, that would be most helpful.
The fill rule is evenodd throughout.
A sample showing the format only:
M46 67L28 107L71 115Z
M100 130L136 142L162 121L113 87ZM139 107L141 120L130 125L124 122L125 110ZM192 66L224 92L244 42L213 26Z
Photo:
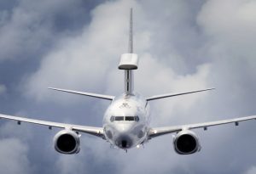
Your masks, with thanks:
M41 121L41 120L35 120L35 119L29 119L29 118L11 116L11 115L2 115L2 114L0 114L0 118L18 121L17 123L19 125L21 122L28 122L28 123L33 123L33 124L38 124L43 126L49 126L49 129L51 129L52 127L58 127L63 129L69 129L76 132L84 132L84 133L94 135L96 137L104 138L102 127L80 126L80 125L73 125L73 124L66 124L66 123L59 123L59 122Z

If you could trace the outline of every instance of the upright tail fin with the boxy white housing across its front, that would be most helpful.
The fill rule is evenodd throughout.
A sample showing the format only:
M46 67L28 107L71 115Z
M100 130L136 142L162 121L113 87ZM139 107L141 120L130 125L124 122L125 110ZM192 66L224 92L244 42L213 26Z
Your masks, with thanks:
M132 32L132 8L130 8L130 30L128 53L121 55L119 70L125 70L125 94L133 94L133 71L137 70L138 57L133 53L133 32Z

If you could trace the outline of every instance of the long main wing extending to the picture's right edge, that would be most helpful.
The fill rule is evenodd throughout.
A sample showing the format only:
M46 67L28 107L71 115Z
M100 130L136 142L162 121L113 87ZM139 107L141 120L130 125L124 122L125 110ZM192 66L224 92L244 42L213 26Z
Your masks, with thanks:
M207 130L208 126L218 126L218 125L224 125L224 124L229 124L229 123L235 123L236 126L238 126L240 121L248 121L248 120L253 120L253 119L256 120L256 115L240 117L240 118L236 118L236 119L223 120L223 121L211 121L211 122L181 125L181 126L155 127L155 128L151 128L149 130L148 138L155 138L155 137L158 137L161 135L165 135L167 133L180 132L185 129L191 130L191 129L196 129L196 128L204 128L204 130Z

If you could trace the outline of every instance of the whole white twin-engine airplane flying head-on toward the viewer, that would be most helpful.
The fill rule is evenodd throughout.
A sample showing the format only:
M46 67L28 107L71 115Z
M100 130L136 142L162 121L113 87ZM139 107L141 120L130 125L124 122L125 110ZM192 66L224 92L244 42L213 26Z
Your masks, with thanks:
M132 33L132 8L130 9L130 29L129 29L129 50L121 55L119 70L125 71L125 92L114 97L98 93L84 93L73 90L49 87L55 91L74 93L93 98L101 98L111 102L106 110L102 127L73 125L60 122L42 121L13 115L0 115L0 118L21 122L33 123L43 126L61 128L54 137L55 150L61 154L78 154L80 151L80 133L87 133L98 138L102 138L117 149L138 148L144 143L148 143L152 138L162 135L172 134L173 147L177 154L194 154L201 150L199 138L193 132L194 129L203 128L207 130L209 126L218 126L228 123L239 125L240 121L256 119L256 115L240 117L223 121L210 121L196 124L180 126L150 126L149 103L152 100L161 98L172 98L190 93L200 93L212 90L190 91L186 93L166 93L143 98L142 95L134 91L133 71L138 68L138 56L133 53L133 33Z

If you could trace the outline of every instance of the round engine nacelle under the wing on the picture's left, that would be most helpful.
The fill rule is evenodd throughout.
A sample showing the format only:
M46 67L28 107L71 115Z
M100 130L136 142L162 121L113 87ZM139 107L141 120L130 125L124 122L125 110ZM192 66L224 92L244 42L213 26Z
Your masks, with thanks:
M80 151L79 134L70 130L62 130L54 137L55 150L61 154L78 154Z

